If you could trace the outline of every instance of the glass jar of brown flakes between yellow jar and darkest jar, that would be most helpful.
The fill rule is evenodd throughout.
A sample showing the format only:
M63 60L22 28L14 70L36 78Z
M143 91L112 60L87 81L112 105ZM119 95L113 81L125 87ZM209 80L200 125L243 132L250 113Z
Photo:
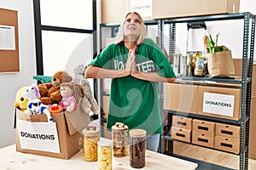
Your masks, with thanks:
M113 156L128 155L128 127L121 122L116 122L112 127Z

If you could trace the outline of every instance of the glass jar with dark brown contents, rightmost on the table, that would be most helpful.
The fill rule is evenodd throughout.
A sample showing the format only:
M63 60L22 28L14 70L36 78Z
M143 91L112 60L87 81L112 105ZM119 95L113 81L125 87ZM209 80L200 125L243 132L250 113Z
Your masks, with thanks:
M130 166L145 167L147 132L143 129L132 129L130 132Z

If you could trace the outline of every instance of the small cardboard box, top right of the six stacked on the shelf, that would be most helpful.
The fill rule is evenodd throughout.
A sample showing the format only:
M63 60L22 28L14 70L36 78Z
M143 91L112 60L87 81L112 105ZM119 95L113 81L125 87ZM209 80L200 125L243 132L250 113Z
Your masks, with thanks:
M240 128L239 126L217 122L215 135L230 139L240 139Z

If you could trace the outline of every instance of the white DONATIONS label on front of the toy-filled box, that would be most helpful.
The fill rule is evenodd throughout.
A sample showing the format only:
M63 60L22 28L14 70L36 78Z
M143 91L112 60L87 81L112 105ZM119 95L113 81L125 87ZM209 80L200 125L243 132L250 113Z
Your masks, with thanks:
M26 122L17 119L20 148L61 153L55 122Z

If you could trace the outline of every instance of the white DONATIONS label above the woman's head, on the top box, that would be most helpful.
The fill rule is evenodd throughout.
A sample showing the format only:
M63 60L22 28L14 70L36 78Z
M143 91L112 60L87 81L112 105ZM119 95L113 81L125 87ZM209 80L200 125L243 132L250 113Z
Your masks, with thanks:
M142 17L151 17L152 0L130 0L130 11L137 11Z

